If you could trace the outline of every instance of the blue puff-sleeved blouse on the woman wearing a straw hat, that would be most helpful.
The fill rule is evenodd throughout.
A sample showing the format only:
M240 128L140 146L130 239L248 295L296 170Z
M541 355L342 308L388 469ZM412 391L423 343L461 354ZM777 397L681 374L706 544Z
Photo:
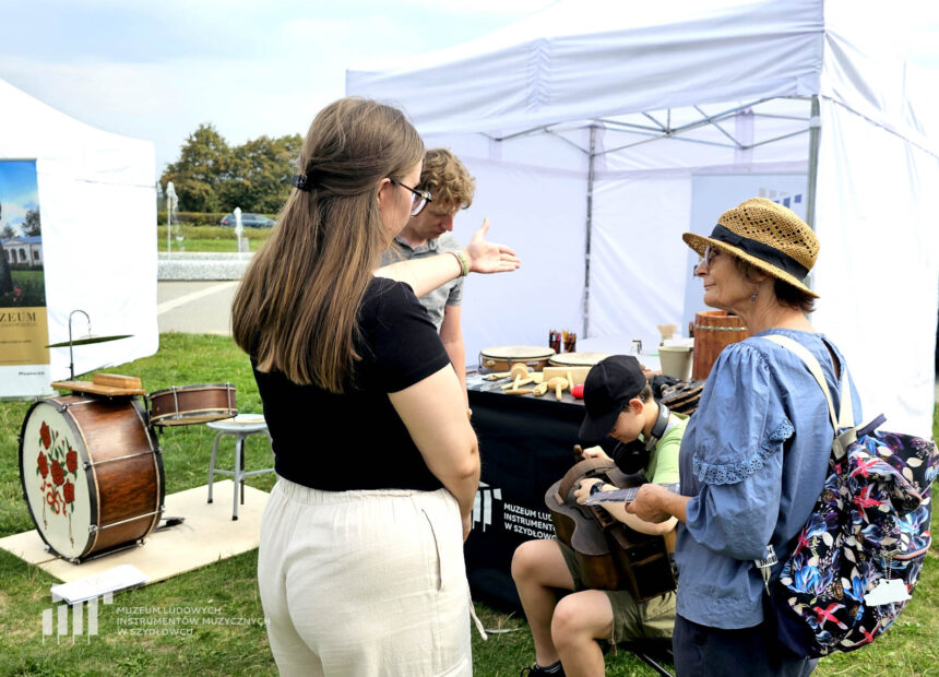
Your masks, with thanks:
M681 441L681 495L692 498L675 551L678 614L714 628L762 622L765 593L753 559L765 557L768 543L783 556L821 492L831 453L821 389L797 355L760 339L766 334L808 348L822 366L835 414L841 405L841 381L821 334L768 330L727 346L714 364ZM845 360L828 345L843 377ZM857 424L853 383L851 393Z

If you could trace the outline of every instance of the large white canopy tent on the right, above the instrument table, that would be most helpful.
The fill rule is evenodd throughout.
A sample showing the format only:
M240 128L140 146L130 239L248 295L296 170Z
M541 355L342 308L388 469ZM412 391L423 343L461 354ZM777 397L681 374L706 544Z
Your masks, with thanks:
M657 343L656 324L694 310L680 234L710 233L759 190L819 234L812 321L845 353L865 415L929 435L939 115L879 54L877 20L847 0L560 0L474 43L348 71L347 93L402 107L429 147L452 149L477 178L457 237L488 216L522 258L467 282L471 361L545 345L549 329Z

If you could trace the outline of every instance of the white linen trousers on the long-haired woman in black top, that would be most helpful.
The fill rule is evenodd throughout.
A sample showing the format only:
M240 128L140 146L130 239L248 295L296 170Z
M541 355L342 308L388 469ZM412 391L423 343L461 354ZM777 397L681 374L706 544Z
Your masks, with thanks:
M470 589L445 489L321 491L278 477L258 583L281 675L472 675Z

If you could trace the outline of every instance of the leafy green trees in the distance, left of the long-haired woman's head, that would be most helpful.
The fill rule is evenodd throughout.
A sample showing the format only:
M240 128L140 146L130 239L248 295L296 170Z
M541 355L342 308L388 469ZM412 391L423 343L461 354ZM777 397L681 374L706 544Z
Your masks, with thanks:
M287 200L294 161L300 153L299 134L260 136L238 146L212 124L200 124L180 149L179 159L159 178L166 190L173 181L182 212L242 212L273 214Z

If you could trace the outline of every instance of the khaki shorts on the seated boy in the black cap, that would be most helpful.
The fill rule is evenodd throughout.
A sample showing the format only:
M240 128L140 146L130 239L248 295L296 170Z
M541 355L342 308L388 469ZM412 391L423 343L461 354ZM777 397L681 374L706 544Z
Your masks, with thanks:
M574 580L574 592L590 590L584 585L581 568L574 551L556 539L564 563ZM637 603L625 590L604 590L613 607L613 634L609 641L632 642L641 639L668 640L675 628L675 593L669 592Z

